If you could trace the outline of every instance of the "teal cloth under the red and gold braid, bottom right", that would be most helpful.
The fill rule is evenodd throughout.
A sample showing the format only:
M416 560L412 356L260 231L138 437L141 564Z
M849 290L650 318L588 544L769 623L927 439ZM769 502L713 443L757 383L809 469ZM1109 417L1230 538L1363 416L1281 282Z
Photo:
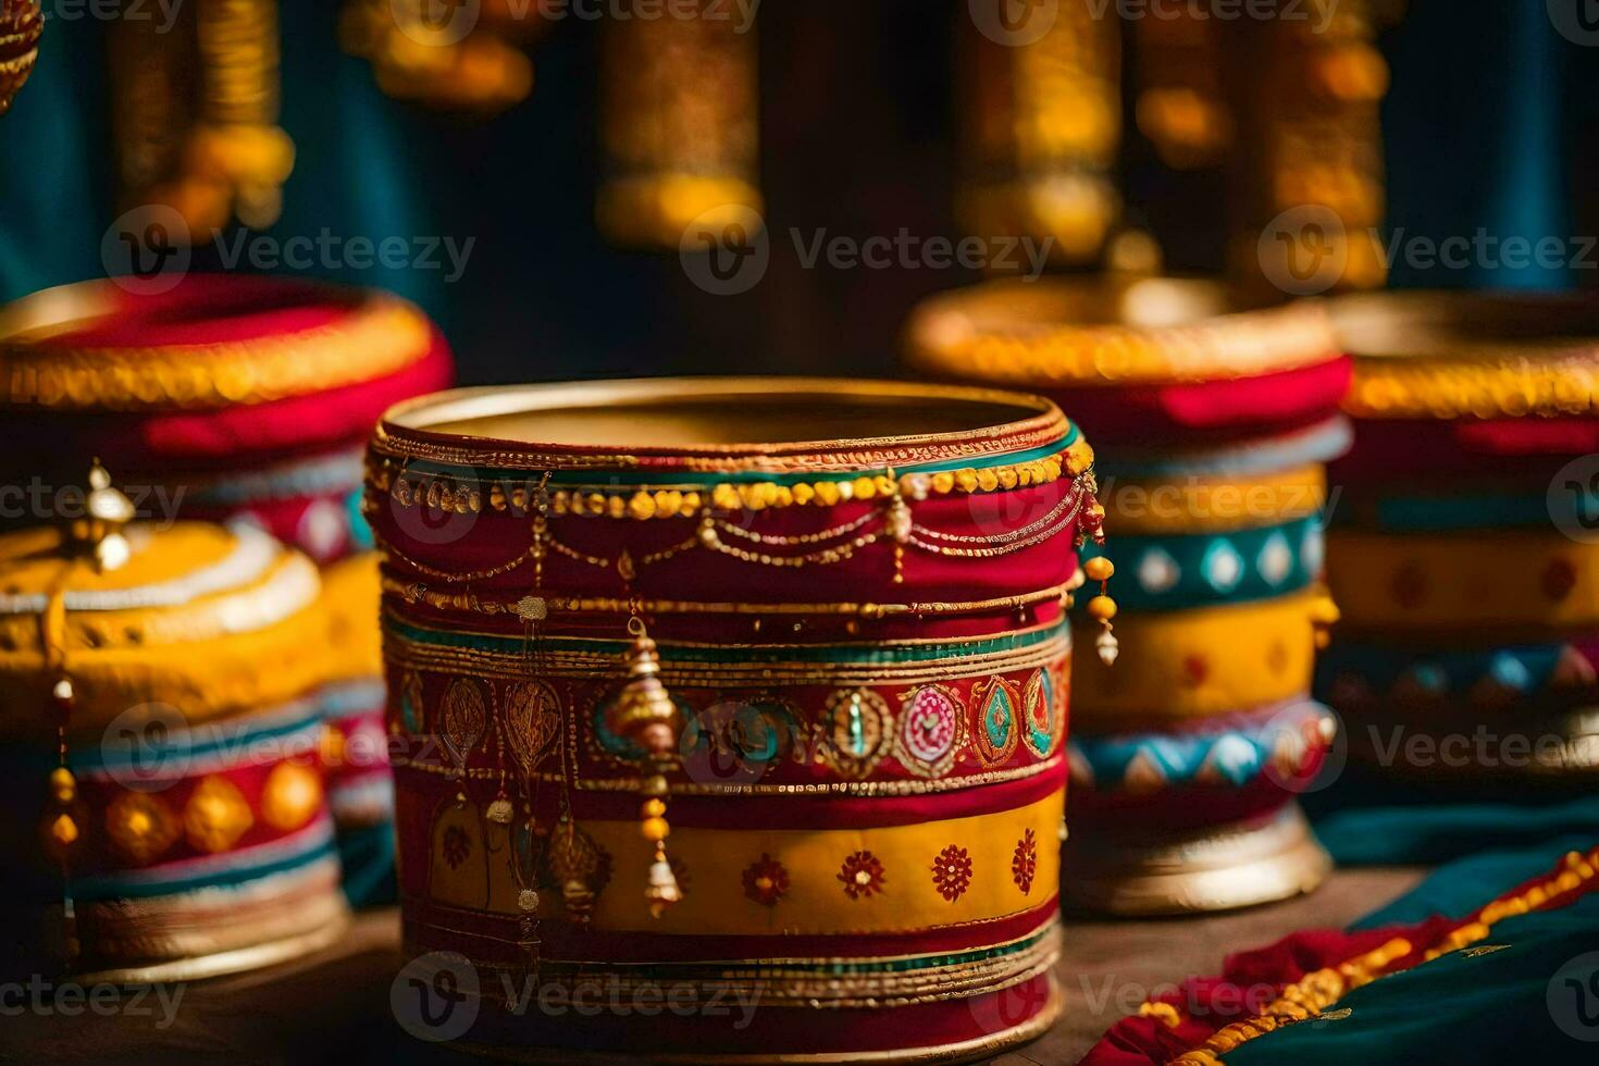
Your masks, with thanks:
M1594 836L1493 849L1452 863L1354 929L1463 917L1545 876ZM1583 1063L1599 1060L1599 895L1498 921L1455 951L1343 996L1327 1020L1282 1026L1225 1056L1294 1063ZM1348 1013L1345 1013L1345 1010Z

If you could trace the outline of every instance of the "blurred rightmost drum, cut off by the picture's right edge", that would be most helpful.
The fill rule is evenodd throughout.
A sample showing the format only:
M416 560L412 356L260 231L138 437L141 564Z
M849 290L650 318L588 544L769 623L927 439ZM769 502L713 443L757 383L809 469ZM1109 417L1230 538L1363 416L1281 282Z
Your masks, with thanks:
M1354 449L1321 666L1351 758L1474 788L1599 772L1599 305L1348 297Z

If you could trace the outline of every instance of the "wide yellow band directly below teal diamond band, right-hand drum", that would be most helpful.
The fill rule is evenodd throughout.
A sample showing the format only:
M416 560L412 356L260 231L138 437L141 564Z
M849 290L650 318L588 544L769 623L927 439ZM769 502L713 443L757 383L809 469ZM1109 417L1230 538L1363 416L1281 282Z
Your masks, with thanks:
M1321 591L1228 607L1122 615L1121 655L1073 662L1071 727L1089 732L1138 722L1225 714L1310 690L1318 626L1335 611ZM1097 626L1075 639L1094 647Z

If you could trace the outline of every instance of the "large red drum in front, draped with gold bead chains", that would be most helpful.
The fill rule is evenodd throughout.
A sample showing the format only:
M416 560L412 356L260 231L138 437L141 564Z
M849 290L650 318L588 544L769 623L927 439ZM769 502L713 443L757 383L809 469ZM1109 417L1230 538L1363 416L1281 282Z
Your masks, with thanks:
M1049 401L951 387L390 411L405 940L473 989L459 1039L934 1061L1047 1026L1091 463Z

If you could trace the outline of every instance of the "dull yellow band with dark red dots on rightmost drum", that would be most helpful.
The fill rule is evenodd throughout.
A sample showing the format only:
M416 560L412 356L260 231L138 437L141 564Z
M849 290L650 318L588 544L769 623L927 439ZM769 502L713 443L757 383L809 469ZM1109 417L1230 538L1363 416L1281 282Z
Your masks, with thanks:
M1599 625L1599 545L1554 529L1335 531L1327 572L1350 628L1570 630Z

